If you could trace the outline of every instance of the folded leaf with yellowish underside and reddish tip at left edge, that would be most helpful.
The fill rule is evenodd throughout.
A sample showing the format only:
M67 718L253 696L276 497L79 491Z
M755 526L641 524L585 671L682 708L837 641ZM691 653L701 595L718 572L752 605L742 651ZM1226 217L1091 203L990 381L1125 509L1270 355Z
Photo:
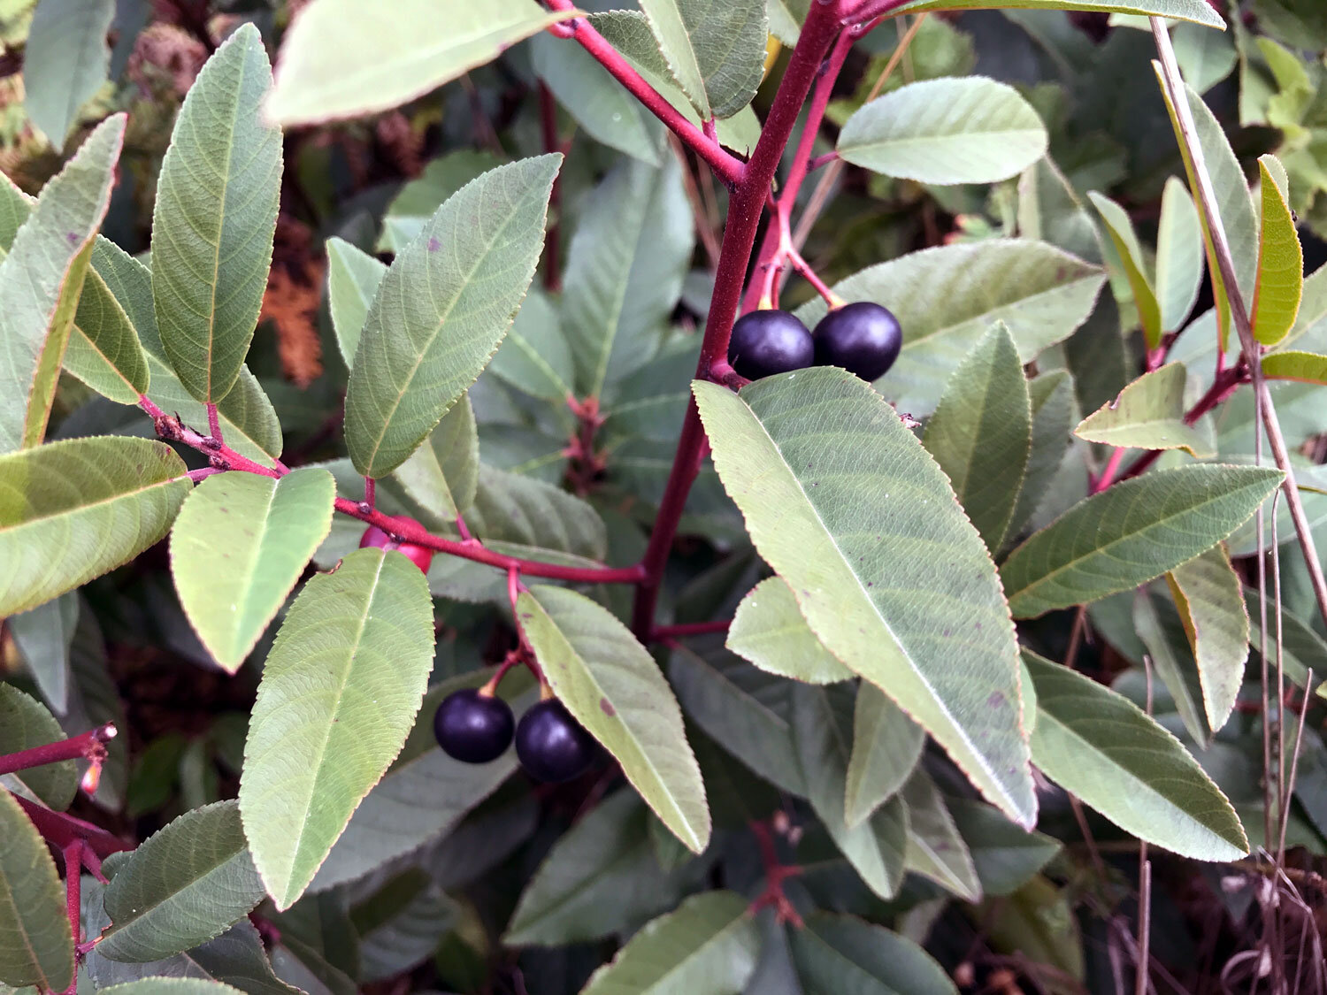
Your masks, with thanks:
M0 263L0 452L46 432L93 236L106 216L125 115L97 126L42 188Z

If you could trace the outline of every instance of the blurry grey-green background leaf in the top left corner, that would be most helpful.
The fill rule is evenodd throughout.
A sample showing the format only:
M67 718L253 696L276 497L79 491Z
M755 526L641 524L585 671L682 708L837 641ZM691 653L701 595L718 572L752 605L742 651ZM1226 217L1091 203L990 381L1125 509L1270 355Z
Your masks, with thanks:
M23 60L23 109L58 153L78 110L106 82L114 0L41 0Z

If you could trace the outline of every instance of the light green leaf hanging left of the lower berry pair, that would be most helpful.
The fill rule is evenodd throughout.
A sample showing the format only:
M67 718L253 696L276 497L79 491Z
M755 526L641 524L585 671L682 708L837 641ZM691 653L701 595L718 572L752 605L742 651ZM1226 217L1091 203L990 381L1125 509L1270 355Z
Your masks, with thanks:
M350 553L291 605L240 775L244 833L277 909L300 897L401 750L431 666L433 601L401 553Z

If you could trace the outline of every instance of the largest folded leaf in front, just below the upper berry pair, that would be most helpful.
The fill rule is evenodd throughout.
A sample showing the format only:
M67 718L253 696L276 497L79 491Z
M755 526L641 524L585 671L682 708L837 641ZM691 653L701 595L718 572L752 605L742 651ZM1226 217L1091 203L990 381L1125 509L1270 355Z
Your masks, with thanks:
M719 479L811 629L1031 824L1014 624L990 553L921 443L833 367L740 395L693 391Z

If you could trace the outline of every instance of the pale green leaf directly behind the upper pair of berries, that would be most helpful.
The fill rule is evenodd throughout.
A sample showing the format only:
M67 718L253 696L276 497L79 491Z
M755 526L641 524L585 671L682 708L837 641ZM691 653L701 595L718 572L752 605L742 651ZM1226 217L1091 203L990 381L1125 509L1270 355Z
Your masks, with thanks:
M877 263L833 291L845 301L882 304L898 318L904 349L877 382L898 410L922 417L994 322L1009 326L1019 360L1030 362L1087 320L1104 280L1097 267L1054 245L987 239ZM813 328L825 306L816 297L795 313Z

